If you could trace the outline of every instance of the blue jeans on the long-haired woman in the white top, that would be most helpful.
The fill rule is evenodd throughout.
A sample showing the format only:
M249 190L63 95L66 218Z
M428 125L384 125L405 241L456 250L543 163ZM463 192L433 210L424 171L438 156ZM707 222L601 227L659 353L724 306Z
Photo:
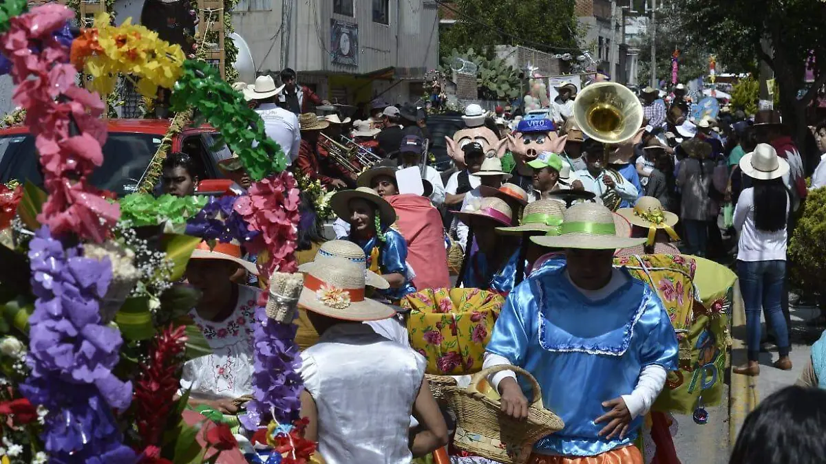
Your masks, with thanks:
M781 300L786 280L786 261L739 261L737 274L746 306L746 341L748 360L757 361L760 354L760 308L777 337L777 350L789 355L789 331L783 316Z

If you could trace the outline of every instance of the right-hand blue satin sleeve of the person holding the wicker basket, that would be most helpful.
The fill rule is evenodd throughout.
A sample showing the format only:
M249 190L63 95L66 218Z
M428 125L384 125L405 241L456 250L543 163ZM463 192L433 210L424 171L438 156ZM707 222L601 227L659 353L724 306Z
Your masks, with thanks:
M668 311L653 291L638 324L648 329L648 337L640 347L639 361L643 367L657 364L666 371L676 371L679 364L679 343Z

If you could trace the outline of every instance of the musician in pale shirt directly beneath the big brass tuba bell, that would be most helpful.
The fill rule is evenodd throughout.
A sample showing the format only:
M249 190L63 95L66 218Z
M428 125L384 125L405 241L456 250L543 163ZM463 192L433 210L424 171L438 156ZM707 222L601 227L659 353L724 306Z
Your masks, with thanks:
M637 187L625 180L622 174L605 168L604 145L594 139L588 139L582 143L582 152L586 168L575 173L576 180L572 183L572 189L592 192L599 202L607 203L605 206L611 209L619 208L619 202L623 200L633 205L637 200Z

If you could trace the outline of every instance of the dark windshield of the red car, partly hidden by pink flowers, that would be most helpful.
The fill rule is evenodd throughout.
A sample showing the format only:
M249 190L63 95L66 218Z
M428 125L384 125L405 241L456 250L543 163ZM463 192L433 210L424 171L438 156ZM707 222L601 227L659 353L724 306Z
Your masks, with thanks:
M160 135L110 132L103 145L103 165L92 173L92 184L117 196L137 191L160 140ZM31 135L0 135L0 182L12 179L43 186Z

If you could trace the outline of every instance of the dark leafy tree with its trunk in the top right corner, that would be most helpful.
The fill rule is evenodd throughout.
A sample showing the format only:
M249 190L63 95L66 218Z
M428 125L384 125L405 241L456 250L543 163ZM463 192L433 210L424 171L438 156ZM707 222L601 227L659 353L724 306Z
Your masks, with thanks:
M826 83L826 2L818 0L680 0L673 14L700 45L729 69L753 69L758 60L774 71L783 121L795 139L805 136L806 108ZM762 40L770 45L762 46ZM768 51L767 51L768 50ZM814 57L814 83L805 70Z

